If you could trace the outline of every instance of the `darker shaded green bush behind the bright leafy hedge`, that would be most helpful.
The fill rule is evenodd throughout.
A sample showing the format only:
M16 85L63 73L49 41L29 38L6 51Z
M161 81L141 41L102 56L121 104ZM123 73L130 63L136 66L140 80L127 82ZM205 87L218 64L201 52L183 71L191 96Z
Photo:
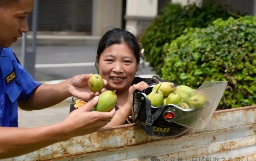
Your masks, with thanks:
M207 3L204 7L190 4L168 3L163 14L156 18L140 36L144 48L144 58L150 63L156 74L161 76L161 67L165 58L162 46L179 37L187 27L207 27L217 18L228 19L233 16L226 7Z

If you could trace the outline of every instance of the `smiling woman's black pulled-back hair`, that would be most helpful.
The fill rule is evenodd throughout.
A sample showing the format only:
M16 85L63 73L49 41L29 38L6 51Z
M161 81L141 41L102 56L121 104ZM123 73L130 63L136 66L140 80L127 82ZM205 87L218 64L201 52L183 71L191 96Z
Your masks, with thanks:
M95 62L95 67L97 67L97 62L100 60L100 55L106 49L107 47L113 45L113 44L121 44L125 43L127 44L131 50L134 52L137 65L140 64L140 58L143 59L140 50L141 47L138 44L138 41L136 37L129 31L121 28L114 28L112 30L107 31L100 39L100 42L98 44L97 48L97 61Z

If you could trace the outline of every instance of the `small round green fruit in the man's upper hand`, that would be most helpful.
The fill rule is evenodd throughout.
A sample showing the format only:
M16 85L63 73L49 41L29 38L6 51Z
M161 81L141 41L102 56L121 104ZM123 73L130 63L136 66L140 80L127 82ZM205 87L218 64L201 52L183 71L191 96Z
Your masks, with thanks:
M96 93L100 92L104 88L104 82L102 76L99 74L93 74L88 81L90 91Z

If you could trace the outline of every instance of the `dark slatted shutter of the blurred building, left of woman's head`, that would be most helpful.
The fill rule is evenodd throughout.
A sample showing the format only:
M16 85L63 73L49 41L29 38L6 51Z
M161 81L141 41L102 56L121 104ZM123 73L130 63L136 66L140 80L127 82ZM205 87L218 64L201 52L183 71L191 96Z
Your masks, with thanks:
M32 30L32 14L28 17ZM39 0L38 31L91 32L92 0Z

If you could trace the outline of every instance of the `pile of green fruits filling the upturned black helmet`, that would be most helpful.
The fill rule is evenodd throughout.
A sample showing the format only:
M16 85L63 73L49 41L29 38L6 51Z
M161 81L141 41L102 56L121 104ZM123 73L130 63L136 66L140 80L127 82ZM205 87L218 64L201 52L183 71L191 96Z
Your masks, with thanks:
M204 95L196 94L192 88L186 85L179 85L175 88L171 82L161 82L155 85L147 98L154 107L174 104L183 109L200 109L207 102Z

